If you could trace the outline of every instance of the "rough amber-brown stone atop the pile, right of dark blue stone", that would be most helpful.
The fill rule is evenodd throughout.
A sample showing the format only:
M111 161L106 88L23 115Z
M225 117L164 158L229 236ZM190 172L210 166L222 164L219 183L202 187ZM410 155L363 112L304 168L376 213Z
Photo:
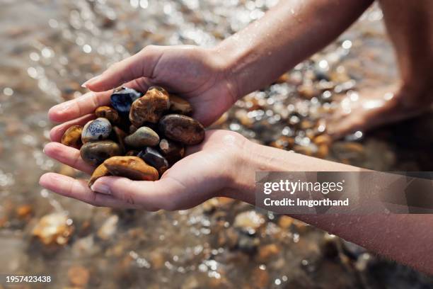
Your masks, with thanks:
M168 92L158 86L151 87L144 96L132 103L129 120L137 128L144 123L158 123L163 112L170 108Z

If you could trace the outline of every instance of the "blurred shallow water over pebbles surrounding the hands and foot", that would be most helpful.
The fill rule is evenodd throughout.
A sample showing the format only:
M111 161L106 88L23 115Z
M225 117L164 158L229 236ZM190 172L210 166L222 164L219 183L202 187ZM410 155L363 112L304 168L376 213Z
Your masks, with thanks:
M85 177L42 152L48 109L83 94L83 81L146 45L212 47L276 2L0 0L0 273L52 276L22 288L433 288L422 273L230 199L180 212L112 210L38 185L47 171ZM381 20L372 6L213 127L369 169L433 171L433 115L337 142L323 135L321 118L340 98L396 81Z

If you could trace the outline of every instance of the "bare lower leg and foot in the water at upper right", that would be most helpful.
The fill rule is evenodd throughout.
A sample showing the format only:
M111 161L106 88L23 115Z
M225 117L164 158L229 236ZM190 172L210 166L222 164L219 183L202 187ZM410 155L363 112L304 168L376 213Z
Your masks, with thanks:
M345 98L328 121L328 132L336 138L425 113L433 103L433 1L380 3L396 50L400 81L360 91L355 101Z

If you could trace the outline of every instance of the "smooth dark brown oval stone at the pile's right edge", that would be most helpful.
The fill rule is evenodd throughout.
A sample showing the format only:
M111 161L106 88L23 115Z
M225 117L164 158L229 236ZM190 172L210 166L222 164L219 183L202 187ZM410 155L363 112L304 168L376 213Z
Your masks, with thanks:
M204 140L204 127L197 120L185 115L165 115L159 129L166 137L185 145L197 145Z

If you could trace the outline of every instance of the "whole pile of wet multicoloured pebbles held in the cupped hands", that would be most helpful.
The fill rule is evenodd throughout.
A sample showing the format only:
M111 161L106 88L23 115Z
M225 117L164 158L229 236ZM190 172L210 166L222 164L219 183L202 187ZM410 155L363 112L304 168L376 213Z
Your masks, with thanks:
M88 186L101 176L156 181L185 155L185 145L204 139L204 128L185 99L152 86L142 94L122 87L111 106L100 106L96 119L73 125L62 144L80 149L84 162L96 166Z

